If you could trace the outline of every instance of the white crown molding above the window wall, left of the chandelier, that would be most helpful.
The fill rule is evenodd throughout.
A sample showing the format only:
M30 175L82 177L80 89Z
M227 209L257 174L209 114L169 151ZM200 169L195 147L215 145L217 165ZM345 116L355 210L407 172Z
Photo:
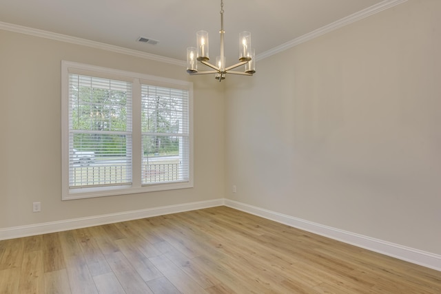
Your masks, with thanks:
M123 47L119 47L119 46L115 46L115 45L109 45L109 44L100 43L100 42L96 42L96 41L90 41L87 39L76 38L75 36L68 36L65 34L58 34L58 33L54 33L54 32L48 32L45 30L28 28L28 27L25 27L22 25L14 25L12 23L4 23L1 21L0 21L0 30L19 32L21 34L30 34L32 36L39 36L39 37L45 38L45 39L52 39L55 41L61 41L61 42L67 42L67 43L72 43L72 44L76 44L76 45L88 46L88 47L95 48L95 49L107 50L107 51L111 51L111 52L140 57L142 59L150 59L152 61L170 63L172 65L185 66L185 64L186 64L185 61L181 61L178 59L171 59L171 58L156 55L156 54L150 54L147 52L127 49L127 48L123 48Z

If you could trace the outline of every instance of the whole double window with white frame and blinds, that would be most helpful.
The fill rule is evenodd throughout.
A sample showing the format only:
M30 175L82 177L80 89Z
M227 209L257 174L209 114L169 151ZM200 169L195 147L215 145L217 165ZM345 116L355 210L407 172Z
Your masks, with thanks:
M62 63L63 200L193 186L192 83Z

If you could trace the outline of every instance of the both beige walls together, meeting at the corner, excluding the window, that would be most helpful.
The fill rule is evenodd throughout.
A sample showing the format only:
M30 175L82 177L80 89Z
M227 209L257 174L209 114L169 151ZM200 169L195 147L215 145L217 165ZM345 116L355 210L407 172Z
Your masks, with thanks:
M225 83L0 30L0 229L225 196L441 254L440 14L409 0ZM194 189L62 202L61 60L194 81Z

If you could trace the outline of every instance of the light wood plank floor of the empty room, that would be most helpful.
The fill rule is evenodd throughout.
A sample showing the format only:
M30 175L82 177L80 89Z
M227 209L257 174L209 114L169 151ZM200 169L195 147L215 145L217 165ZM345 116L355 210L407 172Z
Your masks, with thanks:
M227 207L0 241L0 293L441 293L441 272Z

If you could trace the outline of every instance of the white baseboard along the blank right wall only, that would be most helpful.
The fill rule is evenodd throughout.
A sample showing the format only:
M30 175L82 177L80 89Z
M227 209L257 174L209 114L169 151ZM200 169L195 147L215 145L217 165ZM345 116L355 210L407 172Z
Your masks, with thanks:
M441 271L441 255L436 255L433 253L420 251L418 249L409 248L407 246L370 238L365 235L359 235L356 233L327 227L322 224L309 222L300 218L294 218L292 216L269 211L267 209L261 209L260 207L254 207L252 205L236 202L234 200L225 199L225 206L232 207L240 211L245 211L247 213L254 214L255 216L274 220L282 224L287 224L290 227L295 227L297 229L302 229L304 231L323 235L334 240L368 249L370 251L389 255L393 258L398 258L400 260L405 260L407 262L412 262L414 264L426 266L430 269Z

